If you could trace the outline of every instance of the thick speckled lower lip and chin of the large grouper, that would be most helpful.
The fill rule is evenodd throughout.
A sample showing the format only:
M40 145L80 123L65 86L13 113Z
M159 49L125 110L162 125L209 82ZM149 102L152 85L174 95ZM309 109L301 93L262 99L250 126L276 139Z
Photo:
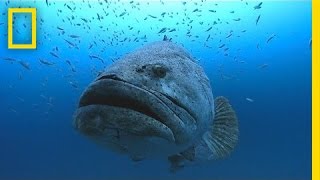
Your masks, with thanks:
M163 123L140 112L109 105L80 107L75 114L75 127L87 136L109 134L110 129L138 136L161 137L174 143L172 131Z

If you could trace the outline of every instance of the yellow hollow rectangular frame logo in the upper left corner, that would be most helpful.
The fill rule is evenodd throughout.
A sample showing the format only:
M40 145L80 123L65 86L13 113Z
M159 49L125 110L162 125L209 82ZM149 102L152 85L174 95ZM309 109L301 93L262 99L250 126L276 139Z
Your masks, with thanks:
M15 13L31 14L31 44L13 43L13 15ZM37 9L36 8L9 8L8 9L8 49L36 49L37 48Z

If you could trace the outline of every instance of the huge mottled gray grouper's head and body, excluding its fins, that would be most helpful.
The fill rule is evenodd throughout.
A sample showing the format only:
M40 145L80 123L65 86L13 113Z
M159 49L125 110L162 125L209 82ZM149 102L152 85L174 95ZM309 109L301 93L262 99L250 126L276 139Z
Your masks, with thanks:
M133 160L198 143L214 118L203 69L182 47L154 42L108 67L85 90L74 126Z

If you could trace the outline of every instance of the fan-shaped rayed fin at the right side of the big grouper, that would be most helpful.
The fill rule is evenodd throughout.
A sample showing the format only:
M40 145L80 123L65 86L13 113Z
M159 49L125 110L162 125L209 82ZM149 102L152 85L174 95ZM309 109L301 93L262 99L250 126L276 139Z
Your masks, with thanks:
M212 152L210 159L219 159L229 155L236 146L239 128L236 113L225 97L217 97L214 104L213 125L203 140Z

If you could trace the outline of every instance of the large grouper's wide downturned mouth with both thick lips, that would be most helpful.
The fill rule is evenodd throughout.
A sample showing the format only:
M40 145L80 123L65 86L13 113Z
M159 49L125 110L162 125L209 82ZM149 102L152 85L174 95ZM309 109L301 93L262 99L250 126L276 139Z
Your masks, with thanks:
M196 127L194 117L177 102L114 75L102 76L83 93L74 125L89 136L115 128L177 144L188 142Z

